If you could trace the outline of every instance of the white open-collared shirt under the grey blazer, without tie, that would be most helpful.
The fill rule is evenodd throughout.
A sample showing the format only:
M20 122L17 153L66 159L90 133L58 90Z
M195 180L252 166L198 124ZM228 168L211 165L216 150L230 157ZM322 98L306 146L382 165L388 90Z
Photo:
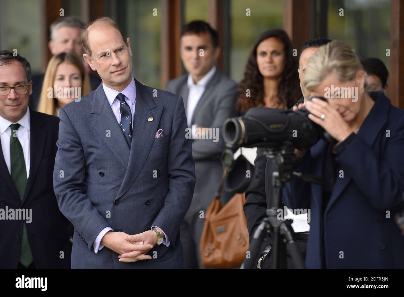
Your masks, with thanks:
M212 69L197 83L194 83L191 74L188 74L188 100L187 100L187 121L188 127L191 126L192 115L194 114L194 110L196 105L198 104L199 99L202 97L203 92L205 91L206 85L209 80L215 74L216 66L213 65Z

